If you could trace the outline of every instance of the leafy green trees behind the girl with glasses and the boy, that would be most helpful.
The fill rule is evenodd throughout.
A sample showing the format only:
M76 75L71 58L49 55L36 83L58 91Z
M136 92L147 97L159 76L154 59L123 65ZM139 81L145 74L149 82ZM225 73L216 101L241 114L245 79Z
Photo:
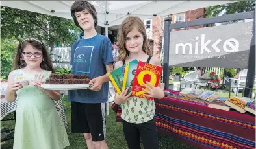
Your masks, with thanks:
M80 31L70 19L1 6L1 78L8 77L12 71L14 50L23 39L37 38L47 47L71 45Z

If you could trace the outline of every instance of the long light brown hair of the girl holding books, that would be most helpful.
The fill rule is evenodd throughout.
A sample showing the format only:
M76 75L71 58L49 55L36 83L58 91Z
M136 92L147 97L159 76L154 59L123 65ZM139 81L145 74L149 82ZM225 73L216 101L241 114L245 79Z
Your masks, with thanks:
M129 16L125 20L123 20L122 25L120 26L119 29L119 36L118 36L118 48L119 48L119 60L125 60L125 58L129 55L129 51L125 48L125 38L131 30L134 29L138 30L143 36L143 45L142 45L142 50L148 54L151 55L151 49L149 46L149 42L147 40L147 34L146 34L146 29L145 25L142 22L142 20L139 17L136 16Z

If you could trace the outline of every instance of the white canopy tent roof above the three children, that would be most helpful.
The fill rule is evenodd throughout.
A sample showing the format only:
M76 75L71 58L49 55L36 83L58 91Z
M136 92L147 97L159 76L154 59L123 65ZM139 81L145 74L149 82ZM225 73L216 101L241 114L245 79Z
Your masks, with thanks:
M233 2L237 1L90 1L96 7L98 25L105 27L106 36L108 27L120 25L127 16L150 19ZM72 3L73 1L1 1L1 6L72 19Z

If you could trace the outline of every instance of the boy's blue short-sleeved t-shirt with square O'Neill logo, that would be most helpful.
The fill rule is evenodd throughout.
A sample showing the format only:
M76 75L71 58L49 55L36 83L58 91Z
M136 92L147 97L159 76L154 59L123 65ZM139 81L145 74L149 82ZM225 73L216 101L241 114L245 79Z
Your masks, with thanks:
M90 79L106 75L106 65L114 62L112 43L106 36L97 34L89 39L73 43L71 48L71 73L86 74ZM109 83L102 84L100 91L89 89L68 91L68 100L81 103L103 103L108 100Z

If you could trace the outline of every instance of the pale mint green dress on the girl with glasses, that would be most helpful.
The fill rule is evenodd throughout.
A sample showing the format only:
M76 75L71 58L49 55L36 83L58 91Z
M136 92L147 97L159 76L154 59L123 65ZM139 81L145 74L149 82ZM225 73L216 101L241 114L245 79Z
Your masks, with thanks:
M51 71L42 71L43 80ZM34 75L14 71L14 82L32 80ZM69 146L64 123L53 100L33 85L17 91L14 149L62 149Z

